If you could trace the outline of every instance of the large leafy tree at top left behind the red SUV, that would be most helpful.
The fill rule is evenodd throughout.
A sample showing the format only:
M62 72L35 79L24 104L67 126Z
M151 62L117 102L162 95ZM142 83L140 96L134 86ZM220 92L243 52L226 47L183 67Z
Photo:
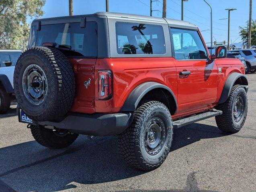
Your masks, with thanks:
M45 0L0 0L0 49L27 47L31 19L43 15Z

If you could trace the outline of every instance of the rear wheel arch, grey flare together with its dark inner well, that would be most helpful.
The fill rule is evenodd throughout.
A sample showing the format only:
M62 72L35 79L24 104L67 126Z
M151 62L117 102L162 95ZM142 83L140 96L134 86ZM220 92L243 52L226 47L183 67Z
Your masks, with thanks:
M145 82L140 84L129 94L121 111L135 111L141 100L157 100L163 102L173 115L177 110L177 100L174 93L167 86L157 82Z

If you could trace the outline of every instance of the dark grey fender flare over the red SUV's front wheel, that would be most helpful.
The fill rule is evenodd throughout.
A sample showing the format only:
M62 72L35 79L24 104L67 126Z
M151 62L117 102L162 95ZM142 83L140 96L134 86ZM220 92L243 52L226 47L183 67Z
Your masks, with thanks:
M246 76L241 73L233 72L228 76L224 84L218 104L224 103L227 100L231 92L231 89L237 80L240 81L238 84L241 84L242 86L244 86L244 89L246 90L246 92L248 91L248 80Z

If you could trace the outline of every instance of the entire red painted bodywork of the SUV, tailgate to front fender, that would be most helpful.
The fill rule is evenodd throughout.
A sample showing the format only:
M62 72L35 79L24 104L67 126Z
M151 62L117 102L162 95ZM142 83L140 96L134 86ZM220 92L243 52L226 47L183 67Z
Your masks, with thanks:
M144 82L158 82L174 93L178 109L173 118L180 118L213 108L231 72L244 74L239 59L182 60L163 58L98 58L69 59L76 78L76 97L72 112L119 112L131 91ZM219 73L221 68L221 73ZM113 96L98 99L98 70L113 73ZM190 71L180 76L180 71ZM84 81L90 80L88 88Z

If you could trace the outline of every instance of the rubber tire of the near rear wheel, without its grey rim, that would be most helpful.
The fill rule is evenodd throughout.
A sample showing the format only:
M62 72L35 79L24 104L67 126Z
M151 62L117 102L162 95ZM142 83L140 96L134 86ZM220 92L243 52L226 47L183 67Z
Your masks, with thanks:
M150 101L139 106L133 114L131 126L119 135L121 157L132 168L144 171L158 168L166 159L172 145L173 126L170 112L161 102ZM150 155L145 150L143 138L147 123L156 117L164 122L165 140L158 154Z

